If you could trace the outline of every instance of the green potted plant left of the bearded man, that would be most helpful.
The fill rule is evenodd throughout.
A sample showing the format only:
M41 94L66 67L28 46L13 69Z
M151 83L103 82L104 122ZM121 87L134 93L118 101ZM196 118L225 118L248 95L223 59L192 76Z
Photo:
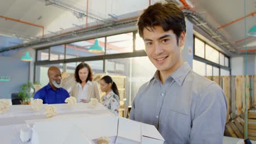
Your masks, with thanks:
M18 93L18 97L21 98L20 103L22 105L30 104L30 100L34 96L33 83L30 81L27 81L27 83L22 84L20 88L21 88L21 91Z

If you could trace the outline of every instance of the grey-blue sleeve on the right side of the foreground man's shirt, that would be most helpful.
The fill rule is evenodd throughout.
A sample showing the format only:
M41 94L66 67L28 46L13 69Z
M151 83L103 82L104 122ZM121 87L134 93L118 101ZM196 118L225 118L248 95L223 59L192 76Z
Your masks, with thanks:
M222 89L212 83L199 93L191 119L190 143L223 143L227 103Z

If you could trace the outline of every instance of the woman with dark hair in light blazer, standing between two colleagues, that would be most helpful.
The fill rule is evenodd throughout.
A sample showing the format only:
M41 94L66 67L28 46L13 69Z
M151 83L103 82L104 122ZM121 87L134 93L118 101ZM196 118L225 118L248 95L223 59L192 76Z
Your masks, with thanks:
M74 76L77 83L72 87L70 95L77 98L78 103L89 103L91 98L101 102L98 85L92 81L92 70L87 63L77 65Z

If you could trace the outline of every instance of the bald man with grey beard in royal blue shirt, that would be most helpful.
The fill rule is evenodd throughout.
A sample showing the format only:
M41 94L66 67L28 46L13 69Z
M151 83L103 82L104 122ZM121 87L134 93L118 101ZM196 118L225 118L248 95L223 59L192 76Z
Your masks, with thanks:
M48 69L49 83L34 94L34 99L42 99L43 104L62 104L69 97L61 87L61 71L57 67Z

